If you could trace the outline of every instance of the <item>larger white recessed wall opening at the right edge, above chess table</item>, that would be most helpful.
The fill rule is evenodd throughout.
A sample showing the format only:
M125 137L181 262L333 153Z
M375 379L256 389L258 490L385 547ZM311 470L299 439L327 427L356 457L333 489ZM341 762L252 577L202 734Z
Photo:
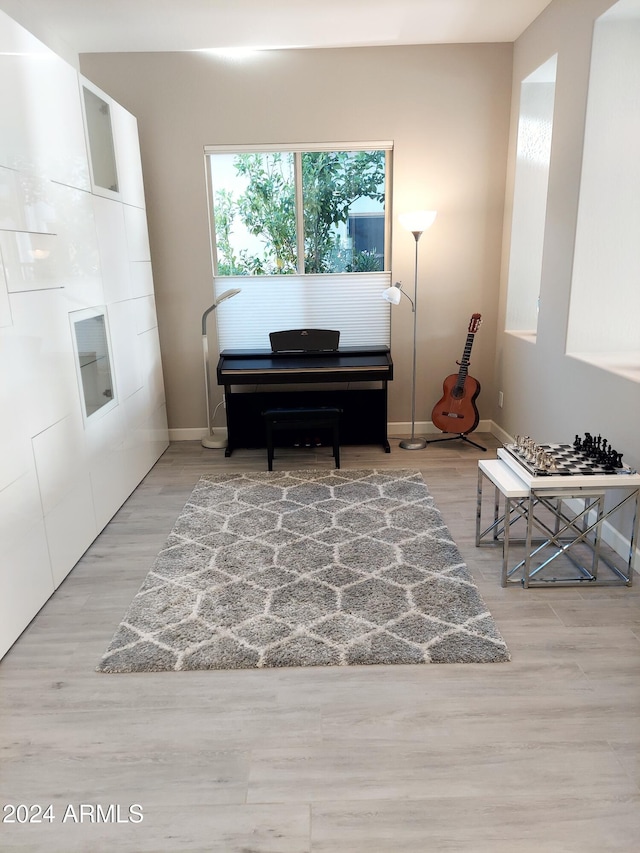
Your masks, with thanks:
M594 26L566 352L640 382L640 0Z

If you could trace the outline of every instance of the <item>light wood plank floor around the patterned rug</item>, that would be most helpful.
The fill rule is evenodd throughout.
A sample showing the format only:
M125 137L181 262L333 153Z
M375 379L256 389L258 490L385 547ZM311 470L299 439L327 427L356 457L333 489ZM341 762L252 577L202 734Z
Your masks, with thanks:
M0 802L54 817L0 825L0 849L640 850L640 582L502 589L499 551L474 545L477 459L497 446L477 439L486 454L394 441L342 465L422 471L510 663L98 674L199 475L266 470L263 452L173 444L0 664ZM328 448L275 462L324 466ZM63 823L80 804L120 822Z

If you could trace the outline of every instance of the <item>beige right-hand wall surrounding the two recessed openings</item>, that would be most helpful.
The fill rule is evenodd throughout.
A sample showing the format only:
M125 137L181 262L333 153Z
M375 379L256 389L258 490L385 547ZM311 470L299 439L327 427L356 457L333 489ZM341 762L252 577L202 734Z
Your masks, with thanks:
M571 441L600 433L640 466L640 387L565 355L593 23L612 0L555 0L514 46L496 383L504 392L497 419L510 435ZM558 53L545 249L537 343L504 334L511 193L520 82ZM607 282L602 282L606 299Z

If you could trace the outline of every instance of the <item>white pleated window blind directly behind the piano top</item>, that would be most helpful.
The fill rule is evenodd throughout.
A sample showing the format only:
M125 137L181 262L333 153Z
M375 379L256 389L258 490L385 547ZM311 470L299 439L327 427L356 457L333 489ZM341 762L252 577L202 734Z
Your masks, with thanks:
M382 291L390 285L389 272L216 277L216 299L230 287L241 290L214 312L218 346L268 350L269 333L286 329L338 330L340 348L389 346Z

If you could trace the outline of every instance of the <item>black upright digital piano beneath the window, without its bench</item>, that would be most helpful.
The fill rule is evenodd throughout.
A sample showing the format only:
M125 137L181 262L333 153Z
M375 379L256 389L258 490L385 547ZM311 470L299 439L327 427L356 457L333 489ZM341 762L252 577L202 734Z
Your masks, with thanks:
M264 447L265 409L337 406L341 444L387 439L387 382L393 379L388 347L340 347L330 329L271 332L271 349L223 350L217 368L224 386L228 444Z

